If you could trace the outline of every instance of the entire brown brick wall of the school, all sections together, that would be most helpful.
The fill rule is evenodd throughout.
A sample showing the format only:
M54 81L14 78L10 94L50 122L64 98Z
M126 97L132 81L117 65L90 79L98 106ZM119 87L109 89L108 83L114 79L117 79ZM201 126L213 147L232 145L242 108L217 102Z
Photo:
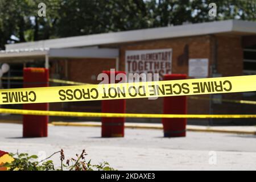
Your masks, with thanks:
M125 51L140 49L162 49L172 48L172 73L188 74L188 64L178 65L177 60L184 53L184 47L188 46L188 57L207 58L209 65L213 66L216 59L216 71L222 76L242 75L243 55L240 36L216 35L216 36L192 36L185 38L152 40L146 42L133 42L105 47L115 47L120 50L119 69L125 71ZM64 75L64 61L60 61L62 75ZM68 80L89 82L97 84L97 75L102 70L115 68L114 59L74 59L68 60ZM211 70L209 67L209 76ZM94 78L93 78L94 77ZM209 98L209 95L200 97ZM222 98L241 100L241 93L222 94ZM71 102L68 110L73 111L100 111L100 101L95 102ZM133 99L126 101L127 113L162 113L163 98L157 100ZM233 114L241 113L242 105L239 104L213 104L213 114ZM188 96L188 113L189 114L209 114L209 100L193 100ZM129 120L129 119L128 119ZM133 119L134 121L135 119ZM146 121L155 121L155 119L138 119ZM156 119L160 121L160 119Z

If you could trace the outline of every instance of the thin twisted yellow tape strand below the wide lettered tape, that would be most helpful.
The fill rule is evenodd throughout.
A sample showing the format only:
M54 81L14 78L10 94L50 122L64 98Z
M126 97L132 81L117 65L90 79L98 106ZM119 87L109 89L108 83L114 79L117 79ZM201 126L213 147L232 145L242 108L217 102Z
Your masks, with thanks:
M51 115L61 117L106 117L106 118L256 118L256 114L138 114L138 113L83 113L69 111L43 111L1 109L0 113L23 115Z

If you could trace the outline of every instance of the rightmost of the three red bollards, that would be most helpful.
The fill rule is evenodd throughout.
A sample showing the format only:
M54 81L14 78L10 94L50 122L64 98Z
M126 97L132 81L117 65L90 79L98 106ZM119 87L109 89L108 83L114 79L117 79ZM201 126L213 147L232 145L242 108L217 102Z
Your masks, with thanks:
M183 80L185 74L164 75L164 80ZM163 101L164 114L187 114L187 97L171 96L164 97ZM187 118L163 118L164 137L185 137Z

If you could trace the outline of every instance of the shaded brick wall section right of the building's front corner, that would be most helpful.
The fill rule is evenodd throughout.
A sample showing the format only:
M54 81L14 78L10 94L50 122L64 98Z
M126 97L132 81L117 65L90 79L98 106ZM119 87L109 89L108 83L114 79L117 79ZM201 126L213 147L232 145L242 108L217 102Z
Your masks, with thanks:
M243 75L243 49L241 36L218 35L217 72L222 76ZM222 94L223 99L242 100L242 93ZM222 102L213 104L214 114L242 114L242 105Z

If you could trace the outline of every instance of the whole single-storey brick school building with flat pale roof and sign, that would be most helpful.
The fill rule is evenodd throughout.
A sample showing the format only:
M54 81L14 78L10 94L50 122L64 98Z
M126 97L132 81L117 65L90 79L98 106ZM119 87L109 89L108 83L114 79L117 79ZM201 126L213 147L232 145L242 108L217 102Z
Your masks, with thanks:
M256 22L223 20L6 44L6 50L0 51L0 63L10 65L4 77L22 76L23 67L46 67L50 78L90 84L98 84L98 74L110 69L159 73L160 80L166 73L184 73L188 78L255 75ZM7 79L3 87L20 88L22 81ZM255 114L255 105L227 100L256 101L256 93L188 96L188 114ZM100 112L101 101L53 103L50 110ZM126 101L126 113L159 114L162 110L163 98ZM246 119L244 123L254 120ZM237 121L241 123L239 119L221 120Z

